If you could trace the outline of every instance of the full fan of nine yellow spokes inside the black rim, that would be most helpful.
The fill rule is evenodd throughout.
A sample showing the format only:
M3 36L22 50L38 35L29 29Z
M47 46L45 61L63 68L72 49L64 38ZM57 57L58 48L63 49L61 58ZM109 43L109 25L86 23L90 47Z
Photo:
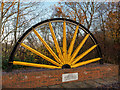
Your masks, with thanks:
M13 64L16 65L25 65L25 66L33 66L33 67L42 67L42 68L62 68L63 65L69 65L71 68L75 68L75 67L79 67L81 65L85 65L91 62L95 62L100 60L101 58L94 58L91 60L87 60L87 61L83 61L83 62L79 62L77 63L79 60L81 60L84 56L86 56L89 52L91 52L94 48L97 47L97 45L92 46L91 48L89 48L88 50L86 50L85 52L83 52L82 54L80 54L79 56L77 56L78 52L81 50L81 48L83 47L84 43L87 41L87 39L89 38L90 34L87 34L84 39L81 41L81 43L78 45L78 47L75 49L75 51L73 51L73 47L75 44L75 40L76 40L76 35L78 33L79 30L79 25L76 26L76 29L74 31L72 40L70 42L69 48L67 50L67 40L66 40L66 21L63 21L63 50L61 51L60 46L58 44L58 41L56 39L53 27L51 22L48 23L49 28L50 28L50 32L52 35L52 39L54 41L55 44L55 48L57 51L57 54L51 49L51 47L44 41L44 39L40 36L40 34L33 28L33 32L35 33L35 35L38 37L38 39L44 44L44 46L46 47L46 49L50 52L50 54L54 57L54 60L52 60L51 58L43 55L42 53L36 51L35 49L25 45L24 43L21 43L21 46L25 47L26 49L28 49L29 51L35 53L36 55L42 57L43 59L51 62L52 64L56 65L45 65L45 64L35 64L35 63L27 63L27 62L20 62L20 61L13 61ZM77 57L76 57L77 56ZM76 57L76 58L75 58Z

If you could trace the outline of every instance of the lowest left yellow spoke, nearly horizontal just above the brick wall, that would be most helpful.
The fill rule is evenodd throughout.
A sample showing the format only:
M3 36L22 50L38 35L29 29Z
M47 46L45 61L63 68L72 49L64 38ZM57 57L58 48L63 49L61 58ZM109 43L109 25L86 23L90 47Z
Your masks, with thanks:
M45 65L45 64L35 64L35 63L27 63L27 62L20 62L20 61L13 61L15 65L24 65L24 66L32 66L32 67L42 67L42 68L61 68L52 65Z

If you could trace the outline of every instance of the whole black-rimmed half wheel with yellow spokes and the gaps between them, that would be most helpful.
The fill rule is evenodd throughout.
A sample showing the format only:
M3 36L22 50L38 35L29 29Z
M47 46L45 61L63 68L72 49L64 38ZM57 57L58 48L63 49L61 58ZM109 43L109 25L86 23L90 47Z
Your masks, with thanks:
M19 50L24 52L18 53ZM31 62L29 59L15 59L27 53L31 53L31 56L27 56L33 58ZM34 25L21 36L11 52L9 66L60 69L75 68L96 61L102 63L102 55L92 33L73 20L55 18Z

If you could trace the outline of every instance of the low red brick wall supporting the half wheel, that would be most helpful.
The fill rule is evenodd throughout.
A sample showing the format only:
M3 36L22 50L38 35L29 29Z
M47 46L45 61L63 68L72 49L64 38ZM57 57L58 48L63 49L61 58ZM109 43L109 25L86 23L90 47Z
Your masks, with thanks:
M61 83L95 80L118 76L118 65L86 65L73 69L56 70L18 70L2 73L3 88L37 88ZM62 82L62 74L78 73L78 80Z

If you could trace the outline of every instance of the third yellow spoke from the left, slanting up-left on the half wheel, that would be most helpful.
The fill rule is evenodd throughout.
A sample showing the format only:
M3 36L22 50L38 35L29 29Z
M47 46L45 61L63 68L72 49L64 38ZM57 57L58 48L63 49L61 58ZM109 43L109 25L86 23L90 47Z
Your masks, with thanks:
M40 34L35 29L33 29L33 31L37 35L39 40L45 45L45 47L51 53L51 55L55 58L55 60L63 65L61 60L57 57L57 55L53 52L53 50L49 47L49 45L43 40L43 38L40 36Z

